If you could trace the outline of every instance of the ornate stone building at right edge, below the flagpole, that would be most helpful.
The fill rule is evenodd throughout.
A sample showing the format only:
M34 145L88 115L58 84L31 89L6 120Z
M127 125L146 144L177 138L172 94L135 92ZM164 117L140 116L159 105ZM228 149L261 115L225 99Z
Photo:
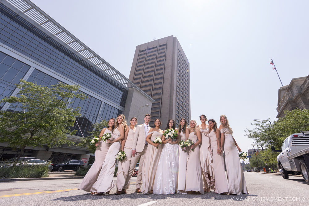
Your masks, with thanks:
M277 118L284 117L285 110L309 109L309 75L293 78L289 85L278 90Z

